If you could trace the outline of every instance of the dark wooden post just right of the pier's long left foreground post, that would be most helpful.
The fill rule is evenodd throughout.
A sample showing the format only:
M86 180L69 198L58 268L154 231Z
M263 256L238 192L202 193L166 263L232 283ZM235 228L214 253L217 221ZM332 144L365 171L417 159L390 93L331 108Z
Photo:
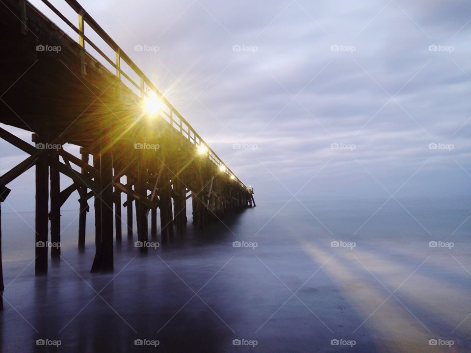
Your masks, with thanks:
M52 156L57 162L59 155ZM51 173L51 257L60 257L60 172L50 167Z

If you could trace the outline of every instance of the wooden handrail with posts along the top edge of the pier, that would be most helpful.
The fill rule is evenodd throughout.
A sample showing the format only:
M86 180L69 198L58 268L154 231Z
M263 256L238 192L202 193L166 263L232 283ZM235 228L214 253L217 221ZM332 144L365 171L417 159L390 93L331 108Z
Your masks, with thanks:
M144 87L147 87L148 90L151 90L169 109L169 113L162 111L169 120L169 124L173 126L177 131L180 132L183 137L188 139L190 143L195 146L201 146L202 144L208 149L208 157L211 162L216 164L218 167L221 165L224 166L224 172L227 175L234 176L235 181L244 189L247 187L244 185L240 179L235 176L233 171L222 161L221 158L209 147L209 145L201 138L201 136L195 131L195 129L186 121L185 118L178 112L178 110L163 96L163 94L157 89L156 86L151 82L151 80L142 72L142 70L132 61L132 59L122 50L119 45L105 32L105 30L85 11L85 9L78 3L77 0L64 0L78 15L78 27L73 25L59 10L57 10L48 0L41 0L49 9L54 12L65 24L67 24L72 30L78 34L78 44L85 48L85 43L89 44L94 50L96 50L108 64L110 64L115 70L117 78L121 83L125 84L121 80L121 76L125 77L134 87L136 87L141 92L141 97L148 95L147 90ZM34 8L32 4L26 1L29 6ZM35 9L35 8L34 8ZM110 59L102 50L100 50L97 45L95 45L90 38L84 33L83 23L86 23L96 34L103 39L103 41L115 52L115 61ZM130 76L128 76L122 69L120 65L120 60L123 60L131 70L137 74L140 78L139 84L134 82ZM174 115L178 117L180 122L175 122ZM183 126L183 124L185 126ZM186 130L184 129L186 127ZM185 136L186 134L186 136ZM191 135L193 134L193 135Z

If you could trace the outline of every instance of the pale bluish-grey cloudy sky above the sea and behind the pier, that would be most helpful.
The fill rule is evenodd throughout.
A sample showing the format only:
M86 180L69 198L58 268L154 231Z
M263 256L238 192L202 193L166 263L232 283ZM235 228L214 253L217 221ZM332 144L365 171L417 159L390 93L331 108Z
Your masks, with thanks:
M80 3L256 200L471 195L469 1ZM26 157L0 148L0 173Z

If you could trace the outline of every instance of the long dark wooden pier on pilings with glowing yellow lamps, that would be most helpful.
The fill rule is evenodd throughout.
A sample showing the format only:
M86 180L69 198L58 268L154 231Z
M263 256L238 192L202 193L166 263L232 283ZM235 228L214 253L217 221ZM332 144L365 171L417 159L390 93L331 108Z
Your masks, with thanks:
M0 123L32 133L31 143L0 128L2 139L29 155L0 176L0 204L10 192L8 183L35 167L36 236L31 246L36 249L37 275L48 272L49 248L52 257L60 256L60 247L54 247L60 243L60 208L76 190L79 249L85 246L86 215L92 199L94 203L91 272L113 271L113 242L121 242L122 232L128 238L135 234L141 242L149 232L156 237L157 208L165 244L186 224L187 202L199 227L252 206L253 189L235 176L77 1L64 0L77 14L75 24L42 1L76 38L25 0L3 0L0 5ZM93 43L84 28L98 34L107 48ZM87 48L101 56L94 58ZM110 51L111 58L105 54ZM65 144L79 146L80 155L65 151ZM71 184L60 190L63 176ZM121 214L121 194L126 194L126 216ZM122 219L126 230L121 229ZM1 276L0 218L0 293Z

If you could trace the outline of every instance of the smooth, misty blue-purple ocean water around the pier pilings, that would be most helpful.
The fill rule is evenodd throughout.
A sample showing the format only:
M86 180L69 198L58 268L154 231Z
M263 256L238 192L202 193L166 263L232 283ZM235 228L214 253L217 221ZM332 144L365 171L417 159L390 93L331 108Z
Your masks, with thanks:
M0 351L469 352L469 198L385 201L257 200L203 231L188 215L145 255L123 224L113 274L89 273L93 211L79 252L63 210L46 277L34 213L3 212Z

